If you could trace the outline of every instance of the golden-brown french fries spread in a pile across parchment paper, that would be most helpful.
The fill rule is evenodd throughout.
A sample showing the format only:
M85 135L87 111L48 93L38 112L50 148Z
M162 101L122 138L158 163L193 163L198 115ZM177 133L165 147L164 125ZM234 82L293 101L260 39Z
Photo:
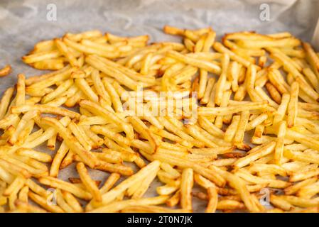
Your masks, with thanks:
M196 196L209 213L318 212L318 53L290 33L163 31L183 43L87 31L22 57L53 72L2 96L0 211L191 212ZM141 116L124 108L139 91ZM183 104L152 115L161 92Z

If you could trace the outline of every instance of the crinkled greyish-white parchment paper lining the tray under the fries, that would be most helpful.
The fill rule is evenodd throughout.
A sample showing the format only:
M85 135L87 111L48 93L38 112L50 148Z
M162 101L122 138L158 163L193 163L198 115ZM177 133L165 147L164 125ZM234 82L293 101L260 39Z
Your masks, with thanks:
M57 6L56 21L47 19L48 4ZM259 18L261 4L270 7L269 21ZM178 40L162 32L163 26L168 24L181 28L212 26L218 36L234 31L289 31L310 41L318 10L318 0L0 0L0 67L6 64L13 67L8 77L0 79L0 94L16 83L18 73L24 73L26 77L42 74L24 65L21 57L38 41L60 37L66 32L99 29L117 35L148 34L151 41ZM107 176L97 170L90 174L102 181ZM59 175L65 180L76 176L73 165ZM147 196L156 194L157 185L158 182L152 184ZM193 208L204 211L205 203L194 199Z

